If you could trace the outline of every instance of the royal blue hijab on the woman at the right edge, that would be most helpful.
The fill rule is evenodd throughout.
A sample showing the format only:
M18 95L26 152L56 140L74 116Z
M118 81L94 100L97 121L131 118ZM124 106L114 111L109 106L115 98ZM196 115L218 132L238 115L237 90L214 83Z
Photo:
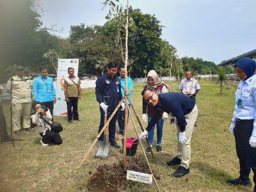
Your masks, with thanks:
M255 74L256 63L253 59L249 57L244 57L238 60L234 67L239 66L246 74L247 78L250 78ZM245 80L246 80L245 79Z

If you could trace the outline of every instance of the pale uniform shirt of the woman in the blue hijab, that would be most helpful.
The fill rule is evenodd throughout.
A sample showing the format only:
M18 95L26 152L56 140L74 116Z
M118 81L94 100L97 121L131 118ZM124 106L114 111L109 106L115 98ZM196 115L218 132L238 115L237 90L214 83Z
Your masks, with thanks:
M238 100L241 99L241 107L238 107ZM256 137L256 75L247 80L241 80L235 92L235 111L231 121L236 119L255 119L252 135Z

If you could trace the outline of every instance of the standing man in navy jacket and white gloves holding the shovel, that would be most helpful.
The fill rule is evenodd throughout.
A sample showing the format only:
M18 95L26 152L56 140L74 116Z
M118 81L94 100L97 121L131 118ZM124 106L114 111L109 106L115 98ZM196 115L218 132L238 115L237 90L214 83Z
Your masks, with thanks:
M100 133L101 129L104 126L104 116L105 110L107 110L107 119L111 116L114 109L117 107L119 102L122 100L122 92L121 92L121 84L120 79L117 74L117 63L116 62L109 62L107 66L107 73L100 76L96 81L96 100L100 103L100 113L101 113L101 120L100 126L98 129L98 133ZM104 103L103 97L109 96L109 101L107 105ZM124 103L122 104L122 107ZM108 132L109 132L109 142L113 148L120 148L115 141L115 134L116 134L116 121L118 117L118 111L114 114L113 118L111 119L108 125ZM99 141L103 141L103 133L98 139Z

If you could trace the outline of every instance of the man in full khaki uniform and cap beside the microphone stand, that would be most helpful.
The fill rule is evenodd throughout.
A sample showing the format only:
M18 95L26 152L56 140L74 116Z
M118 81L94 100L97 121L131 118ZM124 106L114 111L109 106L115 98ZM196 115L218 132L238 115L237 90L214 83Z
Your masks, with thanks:
M20 117L23 116L23 128L32 131L30 128L30 111L31 111L31 80L25 81L23 76L24 68L22 66L16 67L16 75L12 78L12 122L13 129L16 135L20 135ZM24 79L24 81L22 81ZM15 81L20 80L20 81ZM7 93L11 94L11 79L7 81Z

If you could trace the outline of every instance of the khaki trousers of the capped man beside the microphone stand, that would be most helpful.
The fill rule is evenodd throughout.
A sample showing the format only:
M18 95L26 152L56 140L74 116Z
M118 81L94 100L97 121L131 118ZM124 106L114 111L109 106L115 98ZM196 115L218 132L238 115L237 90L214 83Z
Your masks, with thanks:
M20 117L23 116L23 128L30 127L31 103L12 103L12 124L14 131L20 130Z

